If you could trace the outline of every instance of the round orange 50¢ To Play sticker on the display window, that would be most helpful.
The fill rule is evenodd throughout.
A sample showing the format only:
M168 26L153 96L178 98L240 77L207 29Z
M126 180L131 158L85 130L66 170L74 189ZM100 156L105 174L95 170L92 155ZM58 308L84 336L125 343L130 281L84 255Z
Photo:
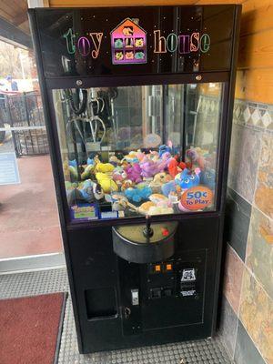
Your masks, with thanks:
M189 210L199 210L212 204L213 192L205 186L187 189L181 197L181 205Z

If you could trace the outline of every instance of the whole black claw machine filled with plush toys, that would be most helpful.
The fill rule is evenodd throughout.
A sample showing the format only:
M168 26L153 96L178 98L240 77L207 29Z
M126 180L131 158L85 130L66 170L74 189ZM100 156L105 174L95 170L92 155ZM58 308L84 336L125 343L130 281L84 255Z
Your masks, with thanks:
M213 336L240 6L29 15L79 351Z

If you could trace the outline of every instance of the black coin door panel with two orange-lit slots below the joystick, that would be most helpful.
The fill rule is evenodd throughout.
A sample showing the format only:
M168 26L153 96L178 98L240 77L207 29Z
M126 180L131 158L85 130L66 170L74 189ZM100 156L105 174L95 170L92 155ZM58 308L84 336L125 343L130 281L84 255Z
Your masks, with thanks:
M124 335L202 322L206 250L147 264L120 258L118 264Z

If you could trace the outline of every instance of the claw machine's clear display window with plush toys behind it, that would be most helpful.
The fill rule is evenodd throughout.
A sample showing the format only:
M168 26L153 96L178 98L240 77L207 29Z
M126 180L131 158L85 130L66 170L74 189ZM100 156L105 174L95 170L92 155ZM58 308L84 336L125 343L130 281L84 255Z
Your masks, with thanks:
M54 89L72 222L216 210L222 83Z

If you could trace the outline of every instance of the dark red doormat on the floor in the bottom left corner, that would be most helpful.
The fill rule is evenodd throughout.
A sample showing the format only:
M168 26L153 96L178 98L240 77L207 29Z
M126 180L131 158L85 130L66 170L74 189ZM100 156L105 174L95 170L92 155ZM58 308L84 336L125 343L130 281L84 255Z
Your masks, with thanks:
M61 292L0 300L1 364L56 364L66 298Z

